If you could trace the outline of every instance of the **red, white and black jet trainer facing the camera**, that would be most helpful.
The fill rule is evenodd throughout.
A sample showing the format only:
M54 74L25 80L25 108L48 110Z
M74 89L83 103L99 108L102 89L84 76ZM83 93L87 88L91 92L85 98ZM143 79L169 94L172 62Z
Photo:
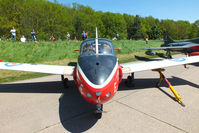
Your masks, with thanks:
M80 55L77 65L57 66L26 63L0 62L0 69L40 72L61 75L62 81L67 84L65 76L73 76L82 97L89 103L96 105L95 115L101 118L103 103L109 101L117 92L123 74L131 74L127 84L133 81L133 73L156 69L160 78L165 78L162 69L169 66L199 62L199 56L185 57L177 60L165 59L151 62L118 64L113 43L108 39L97 37L87 39L80 46ZM169 84L172 89L172 86ZM175 95L176 92L173 92ZM178 95L176 96L178 98ZM179 98L178 98L179 99Z

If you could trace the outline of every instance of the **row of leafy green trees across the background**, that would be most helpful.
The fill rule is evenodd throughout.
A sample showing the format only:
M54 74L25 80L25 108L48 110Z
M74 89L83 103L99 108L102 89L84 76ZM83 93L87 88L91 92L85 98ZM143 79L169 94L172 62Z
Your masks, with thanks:
M10 38L10 29L15 27L17 38L22 35L31 38L35 29L37 39L81 39L86 31L89 38L95 37L98 27L99 37L113 38L116 33L120 39L162 38L167 32L173 39L189 39L199 36L199 20L189 21L159 20L129 14L94 11L91 7L73 3L72 7L47 0L0 0L0 37Z

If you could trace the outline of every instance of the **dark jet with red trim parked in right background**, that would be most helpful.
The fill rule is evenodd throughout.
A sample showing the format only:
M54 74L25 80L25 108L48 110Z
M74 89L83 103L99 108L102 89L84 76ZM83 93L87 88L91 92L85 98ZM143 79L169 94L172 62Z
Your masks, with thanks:
M199 37L186 41L174 41L168 34L164 34L164 44L156 48L143 48L145 50L165 50L166 56L172 58L171 51L181 52L188 56L199 55Z

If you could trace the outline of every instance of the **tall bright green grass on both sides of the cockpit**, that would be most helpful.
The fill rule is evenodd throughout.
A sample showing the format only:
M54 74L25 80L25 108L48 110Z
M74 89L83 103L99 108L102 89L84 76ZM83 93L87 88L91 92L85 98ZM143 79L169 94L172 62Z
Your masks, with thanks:
M158 47L162 42L149 41L152 47ZM10 42L0 41L0 59L7 62L26 62L37 63L44 61L54 61L62 59L77 58L79 52L73 51L79 49L81 42L74 41L56 41L38 43L34 42ZM134 52L144 52L141 48L148 47L145 41L138 40L119 40L113 41L113 44L121 50L117 54L129 54Z

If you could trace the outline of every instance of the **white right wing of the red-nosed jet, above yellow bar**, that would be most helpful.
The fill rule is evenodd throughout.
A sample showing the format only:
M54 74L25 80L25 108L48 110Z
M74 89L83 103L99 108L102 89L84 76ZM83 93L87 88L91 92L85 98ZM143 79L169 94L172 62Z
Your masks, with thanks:
M164 59L159 61L149 61L140 63L121 64L123 73L132 73L170 66L199 62L199 56L183 57L179 59Z

